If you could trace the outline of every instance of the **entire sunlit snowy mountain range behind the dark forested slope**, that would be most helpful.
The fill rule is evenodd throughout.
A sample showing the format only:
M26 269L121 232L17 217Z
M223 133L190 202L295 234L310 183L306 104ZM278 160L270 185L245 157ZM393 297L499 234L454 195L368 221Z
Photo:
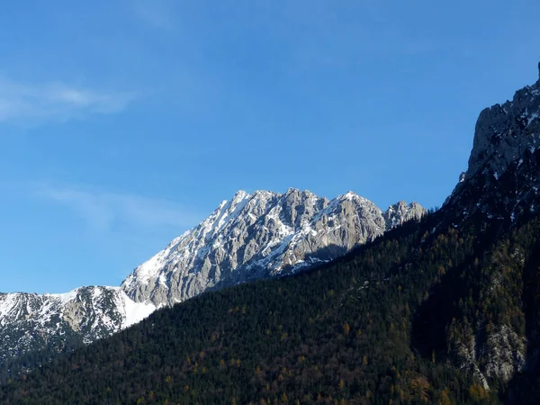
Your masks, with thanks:
M159 307L327 262L424 212L416 202L398 202L383 212L351 192L329 201L295 189L239 191L136 268L121 287L0 294L0 361L42 349L69 351Z

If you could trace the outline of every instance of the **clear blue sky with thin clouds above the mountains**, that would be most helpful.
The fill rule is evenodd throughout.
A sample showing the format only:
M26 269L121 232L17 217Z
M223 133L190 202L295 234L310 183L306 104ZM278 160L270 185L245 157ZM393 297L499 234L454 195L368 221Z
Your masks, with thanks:
M238 189L442 204L482 108L536 81L538 15L537 0L4 5L0 291L118 285Z

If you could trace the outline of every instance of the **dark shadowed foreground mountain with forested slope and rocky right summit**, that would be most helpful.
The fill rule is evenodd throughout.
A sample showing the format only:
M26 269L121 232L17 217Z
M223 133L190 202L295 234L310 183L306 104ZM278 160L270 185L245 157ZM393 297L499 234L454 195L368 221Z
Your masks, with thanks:
M440 210L300 274L156 311L0 401L539 403L539 89L481 113Z

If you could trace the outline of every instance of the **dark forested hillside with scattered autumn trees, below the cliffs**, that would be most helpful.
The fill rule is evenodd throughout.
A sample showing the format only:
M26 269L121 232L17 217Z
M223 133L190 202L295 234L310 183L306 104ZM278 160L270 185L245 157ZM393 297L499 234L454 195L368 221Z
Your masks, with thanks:
M410 222L304 275L157 311L12 380L0 400L498 403L521 382L475 373L456 347L480 324L532 332L526 320L536 312L527 308L538 277L524 269L537 268L540 220L507 233L500 221L474 218L437 230L440 217ZM504 288L482 293L499 277Z

